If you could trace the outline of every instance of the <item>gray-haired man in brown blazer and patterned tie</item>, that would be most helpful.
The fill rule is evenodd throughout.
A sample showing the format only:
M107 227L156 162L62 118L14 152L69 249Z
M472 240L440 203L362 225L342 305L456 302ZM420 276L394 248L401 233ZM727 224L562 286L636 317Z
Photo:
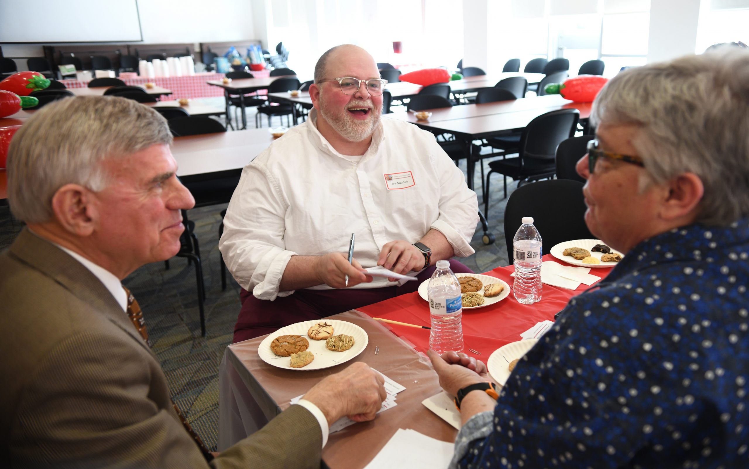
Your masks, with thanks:
M171 141L160 114L112 96L47 105L14 136L8 199L28 227L0 254L1 467L315 468L330 423L375 418L383 380L357 363L201 454L120 284L179 249L194 200Z

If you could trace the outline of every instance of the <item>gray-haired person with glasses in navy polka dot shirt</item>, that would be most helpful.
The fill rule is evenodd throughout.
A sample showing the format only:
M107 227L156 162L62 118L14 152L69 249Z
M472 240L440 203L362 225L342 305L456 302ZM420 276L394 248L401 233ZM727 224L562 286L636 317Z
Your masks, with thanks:
M577 171L587 226L625 257L497 401L464 395L451 468L749 467L748 103L741 49L601 90ZM488 380L465 355L429 355L452 395Z

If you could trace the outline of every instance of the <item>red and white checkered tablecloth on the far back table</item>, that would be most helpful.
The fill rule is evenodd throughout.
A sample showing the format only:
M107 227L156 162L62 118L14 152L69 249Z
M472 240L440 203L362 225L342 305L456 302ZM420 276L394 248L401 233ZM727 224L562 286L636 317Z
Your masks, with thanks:
M269 70L261 70L259 72L253 71L252 75L255 78L265 78L270 76ZM180 99L180 98L210 98L210 97L223 97L224 91L218 86L208 85L208 80L220 80L224 78L223 73L195 73L192 76L171 76L169 78L158 77L153 79L137 77L134 79L126 78L121 79L126 85L145 85L145 83L151 82L154 85L171 90L172 94L164 96L164 99ZM83 82L76 79L60 80L67 88L86 88L88 82Z

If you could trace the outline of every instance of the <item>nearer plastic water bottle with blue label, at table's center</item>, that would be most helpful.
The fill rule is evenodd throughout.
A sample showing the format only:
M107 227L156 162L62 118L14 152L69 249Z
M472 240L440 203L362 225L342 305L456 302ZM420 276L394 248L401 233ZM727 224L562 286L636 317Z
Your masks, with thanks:
M446 260L437 261L437 270L431 275L427 289L431 313L429 348L443 353L463 350L463 298L461 284L450 270Z

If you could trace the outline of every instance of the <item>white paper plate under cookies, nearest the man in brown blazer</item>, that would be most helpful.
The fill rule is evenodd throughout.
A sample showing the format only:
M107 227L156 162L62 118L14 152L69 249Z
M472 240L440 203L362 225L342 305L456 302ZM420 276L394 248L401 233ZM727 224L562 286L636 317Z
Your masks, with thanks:
M345 352L333 352L325 348L324 340L312 340L307 336L307 331L313 325L318 322L327 322L333 325L333 334L346 334L354 337L354 346ZM311 364L303 368L291 368L289 363L291 362L290 357L279 357L273 353L270 349L270 343L273 339L279 337L279 335L297 334L309 340L309 352L315 354L315 360ZM364 352L367 344L369 343L369 336L363 328L360 328L356 324L345 321L337 321L336 319L321 319L317 321L305 321L297 322L296 324L287 325L285 328L280 328L278 331L273 332L260 343L258 347L258 355L267 364L271 364L274 367L285 368L286 370L294 371L307 371L307 370L321 370L322 368L335 367L336 365L345 363L351 358L356 357L361 352Z

